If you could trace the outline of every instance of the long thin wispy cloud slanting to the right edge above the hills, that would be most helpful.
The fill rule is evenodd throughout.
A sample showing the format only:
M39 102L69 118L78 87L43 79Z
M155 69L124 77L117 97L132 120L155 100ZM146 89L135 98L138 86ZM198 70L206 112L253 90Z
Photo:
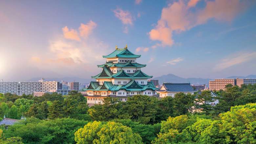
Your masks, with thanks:
M228 67L249 62L252 60L256 60L256 52L251 53L235 53L233 55L228 56L227 58L221 60L220 63L216 64L213 67L214 71L221 71L223 69L226 69Z

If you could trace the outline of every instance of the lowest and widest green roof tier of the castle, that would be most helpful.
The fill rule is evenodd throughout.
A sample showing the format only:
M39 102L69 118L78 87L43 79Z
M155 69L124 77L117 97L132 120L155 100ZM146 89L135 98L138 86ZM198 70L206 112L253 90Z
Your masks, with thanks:
M103 85L99 85L97 87L91 87L92 83L96 81L92 81L90 86L85 91L118 91L120 89L125 89L126 91L144 91L146 89L157 90L157 88L153 85L152 82L148 82L146 85L140 85L134 79L128 82L126 85L113 85L111 81L104 81Z

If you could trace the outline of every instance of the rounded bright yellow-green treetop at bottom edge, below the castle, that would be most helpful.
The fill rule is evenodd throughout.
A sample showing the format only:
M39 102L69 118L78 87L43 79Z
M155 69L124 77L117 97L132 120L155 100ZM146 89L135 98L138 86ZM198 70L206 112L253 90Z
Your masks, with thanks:
M120 123L89 122L84 128L75 132L77 144L122 143L142 144L141 137L132 132L132 129Z

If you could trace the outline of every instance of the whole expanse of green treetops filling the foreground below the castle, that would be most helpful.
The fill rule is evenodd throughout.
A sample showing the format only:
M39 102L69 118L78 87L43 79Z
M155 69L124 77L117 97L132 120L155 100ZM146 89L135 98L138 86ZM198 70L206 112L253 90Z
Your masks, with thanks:
M225 91L178 93L156 98L135 95L126 102L105 98L88 107L72 91L42 97L0 94L0 120L20 119L0 127L3 144L174 144L256 143L256 84L227 85ZM209 103L219 99L215 106Z

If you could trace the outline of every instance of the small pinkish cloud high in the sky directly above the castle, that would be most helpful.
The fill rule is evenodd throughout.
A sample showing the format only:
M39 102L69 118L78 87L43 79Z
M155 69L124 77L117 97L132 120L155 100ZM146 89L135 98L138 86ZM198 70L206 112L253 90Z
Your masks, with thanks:
M115 10L113 10L113 12L115 13L115 16L121 20L121 22L123 23L123 25L126 25L124 27L124 33L128 33L128 25L133 25L133 21L134 18L132 16L132 14L130 13L130 11L128 10L122 10L121 8L117 8Z

